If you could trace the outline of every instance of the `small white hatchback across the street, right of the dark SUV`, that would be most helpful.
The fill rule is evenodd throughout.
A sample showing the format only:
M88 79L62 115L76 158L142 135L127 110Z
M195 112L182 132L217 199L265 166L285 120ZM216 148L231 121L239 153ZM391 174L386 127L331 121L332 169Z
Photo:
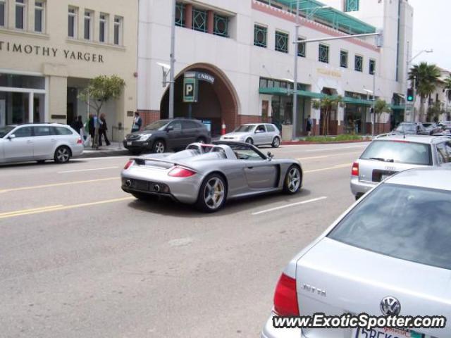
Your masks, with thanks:
M280 146L280 131L270 123L249 123L240 125L233 132L221 136L221 141L246 142L254 146Z

